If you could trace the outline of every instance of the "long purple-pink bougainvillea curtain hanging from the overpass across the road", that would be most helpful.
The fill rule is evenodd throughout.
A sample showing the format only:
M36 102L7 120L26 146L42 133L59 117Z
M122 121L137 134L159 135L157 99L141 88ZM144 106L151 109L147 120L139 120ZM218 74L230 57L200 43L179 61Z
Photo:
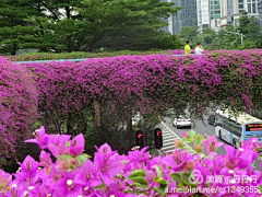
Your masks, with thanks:
M233 111L262 104L262 50L213 51L203 56L120 56L81 62L26 63L36 76L39 111L46 127L53 119L84 131L94 116L97 124L126 123L134 107L165 116L190 105L202 118L211 101ZM103 119L100 118L103 116ZM56 124L59 125L59 124ZM59 128L52 131L60 130ZM50 128L48 129L50 130Z

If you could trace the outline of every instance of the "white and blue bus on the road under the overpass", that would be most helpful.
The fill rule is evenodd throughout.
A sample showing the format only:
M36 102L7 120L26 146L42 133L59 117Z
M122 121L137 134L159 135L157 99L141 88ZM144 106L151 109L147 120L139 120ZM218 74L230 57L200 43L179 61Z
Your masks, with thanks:
M215 135L233 144L235 148L240 148L242 141L250 137L255 137L262 141L262 120L249 114L241 113L237 118L230 117L228 109L216 111L218 121L215 126Z

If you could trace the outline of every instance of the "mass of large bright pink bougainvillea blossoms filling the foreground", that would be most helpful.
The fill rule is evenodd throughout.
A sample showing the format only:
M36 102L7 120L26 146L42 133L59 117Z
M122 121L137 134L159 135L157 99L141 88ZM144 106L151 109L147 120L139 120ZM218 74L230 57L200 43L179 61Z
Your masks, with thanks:
M175 141L172 154L150 159L146 148L119 155L105 143L93 161L84 151L84 137L47 135L44 127L27 142L43 149L39 162L29 155L12 176L0 170L1 197L120 197L120 196L261 196L262 175L250 166L262 144L250 138L240 149L222 146L215 136L204 139L194 131L183 134L194 151ZM203 144L203 146L202 146ZM205 148L206 152L202 150ZM52 162L48 149L56 158Z

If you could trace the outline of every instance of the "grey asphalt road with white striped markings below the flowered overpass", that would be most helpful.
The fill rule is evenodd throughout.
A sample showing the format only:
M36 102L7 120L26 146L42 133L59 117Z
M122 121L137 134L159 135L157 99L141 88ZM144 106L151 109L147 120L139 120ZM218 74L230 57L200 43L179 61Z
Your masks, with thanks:
M162 124L159 125L160 129L163 130L163 148L160 149L160 153L164 154L166 152L171 154L171 152L175 149L175 146L174 146L175 139L182 139L181 134L183 131L194 130L196 131L196 134L201 134L205 138L215 135L215 127L212 125L209 125L206 118L207 117L204 117L205 125L201 120L199 120L195 123L195 127L192 127L192 128L187 128L187 127L176 128L175 126L172 126L171 118L169 117L165 118L165 120L162 121ZM223 142L224 144L229 144L224 140L221 140L221 139L217 139L217 140L219 142ZM218 148L216 153L226 154L225 148L224 147ZM257 160L254 163L254 169L262 171L260 163L261 161Z

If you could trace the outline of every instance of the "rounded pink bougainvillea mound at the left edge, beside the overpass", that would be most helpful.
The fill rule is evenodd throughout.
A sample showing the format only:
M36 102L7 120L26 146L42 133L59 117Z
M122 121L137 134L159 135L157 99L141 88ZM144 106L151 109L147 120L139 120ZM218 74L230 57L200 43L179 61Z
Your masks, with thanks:
M0 166L15 157L15 148L31 136L37 96L31 73L0 57Z

